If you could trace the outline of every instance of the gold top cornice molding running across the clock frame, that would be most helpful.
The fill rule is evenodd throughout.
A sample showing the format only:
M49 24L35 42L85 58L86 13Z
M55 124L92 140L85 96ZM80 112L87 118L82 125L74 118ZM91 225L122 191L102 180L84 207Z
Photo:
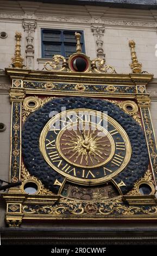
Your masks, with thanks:
M86 83L86 84L114 84L114 86L120 86L122 84L123 86L135 86L135 84L138 82L146 83L150 82L152 80L153 75L152 74L114 74L114 73L108 73L105 74L104 72L82 72L81 76L78 74L78 72L47 72L47 71L40 71L40 70L28 70L28 69L5 69L5 72L7 75L10 76L10 78L17 78L21 79L23 81L40 81L40 82L49 82L56 83L58 82L68 82L68 83ZM35 88L37 89L37 88ZM40 88L39 88L40 90ZM48 90L49 91L49 90ZM43 93L43 91L42 91Z

